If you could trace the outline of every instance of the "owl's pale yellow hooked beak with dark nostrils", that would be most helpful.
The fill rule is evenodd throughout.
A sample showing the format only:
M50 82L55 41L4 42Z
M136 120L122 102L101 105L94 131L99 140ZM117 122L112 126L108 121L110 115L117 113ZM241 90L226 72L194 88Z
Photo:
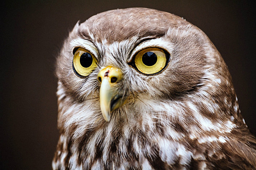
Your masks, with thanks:
M98 73L100 85L100 110L103 118L109 122L111 111L123 105L122 95L117 91L117 83L123 78L119 68L108 66Z

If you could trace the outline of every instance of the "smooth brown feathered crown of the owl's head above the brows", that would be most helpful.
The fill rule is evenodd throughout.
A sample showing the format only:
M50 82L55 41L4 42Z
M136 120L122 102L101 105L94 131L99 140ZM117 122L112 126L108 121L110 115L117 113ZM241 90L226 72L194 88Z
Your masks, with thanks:
M117 9L92 16L79 26L78 34L92 42L121 42L137 36L162 37L170 27L188 22L174 14L147 8Z

